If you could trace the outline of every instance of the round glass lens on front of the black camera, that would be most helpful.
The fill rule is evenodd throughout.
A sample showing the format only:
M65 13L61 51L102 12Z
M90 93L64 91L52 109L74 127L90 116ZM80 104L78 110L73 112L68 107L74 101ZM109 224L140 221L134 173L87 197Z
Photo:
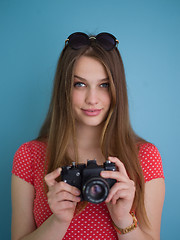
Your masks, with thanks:
M84 200L92 203L101 203L106 200L109 186L104 179L91 178L83 186Z

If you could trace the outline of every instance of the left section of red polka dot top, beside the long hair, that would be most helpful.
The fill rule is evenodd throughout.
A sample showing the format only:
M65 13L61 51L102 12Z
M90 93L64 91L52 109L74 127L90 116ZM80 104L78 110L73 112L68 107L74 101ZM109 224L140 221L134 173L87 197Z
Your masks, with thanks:
M24 143L16 152L12 173L35 188L34 218L39 227L51 214L43 185L46 144L38 141Z

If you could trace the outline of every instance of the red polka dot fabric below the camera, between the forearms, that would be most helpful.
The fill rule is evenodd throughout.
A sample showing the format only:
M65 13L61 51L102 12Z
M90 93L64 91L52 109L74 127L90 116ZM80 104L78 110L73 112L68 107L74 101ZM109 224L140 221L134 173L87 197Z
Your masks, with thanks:
M88 203L87 207L73 218L63 239L118 239L106 204Z

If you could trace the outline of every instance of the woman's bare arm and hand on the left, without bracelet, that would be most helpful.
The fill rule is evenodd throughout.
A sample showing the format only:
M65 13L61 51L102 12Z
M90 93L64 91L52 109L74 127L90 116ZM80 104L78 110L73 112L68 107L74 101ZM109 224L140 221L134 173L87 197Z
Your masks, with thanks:
M54 212L38 229L36 229L33 215L34 187L19 177L12 175L12 240L59 240L63 238L79 199L76 199L76 196L73 195L75 188L68 184L68 186L63 184L63 187L57 190L59 185L54 179L59 174L59 171L54 171L49 176L47 175L46 182L51 188L49 191L51 196L48 201L51 202ZM55 185L57 185L56 190ZM66 196L63 196L62 191L71 191L72 194L67 193ZM60 199L54 200L59 196ZM75 202L66 201L68 198L72 198Z

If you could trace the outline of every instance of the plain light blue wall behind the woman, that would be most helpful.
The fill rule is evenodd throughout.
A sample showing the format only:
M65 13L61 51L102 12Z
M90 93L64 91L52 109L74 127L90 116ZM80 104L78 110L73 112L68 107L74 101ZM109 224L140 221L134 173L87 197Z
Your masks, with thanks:
M120 41L135 131L156 144L166 197L161 239L179 238L180 1L0 1L0 239L10 239L13 155L37 136L54 71L74 31Z

